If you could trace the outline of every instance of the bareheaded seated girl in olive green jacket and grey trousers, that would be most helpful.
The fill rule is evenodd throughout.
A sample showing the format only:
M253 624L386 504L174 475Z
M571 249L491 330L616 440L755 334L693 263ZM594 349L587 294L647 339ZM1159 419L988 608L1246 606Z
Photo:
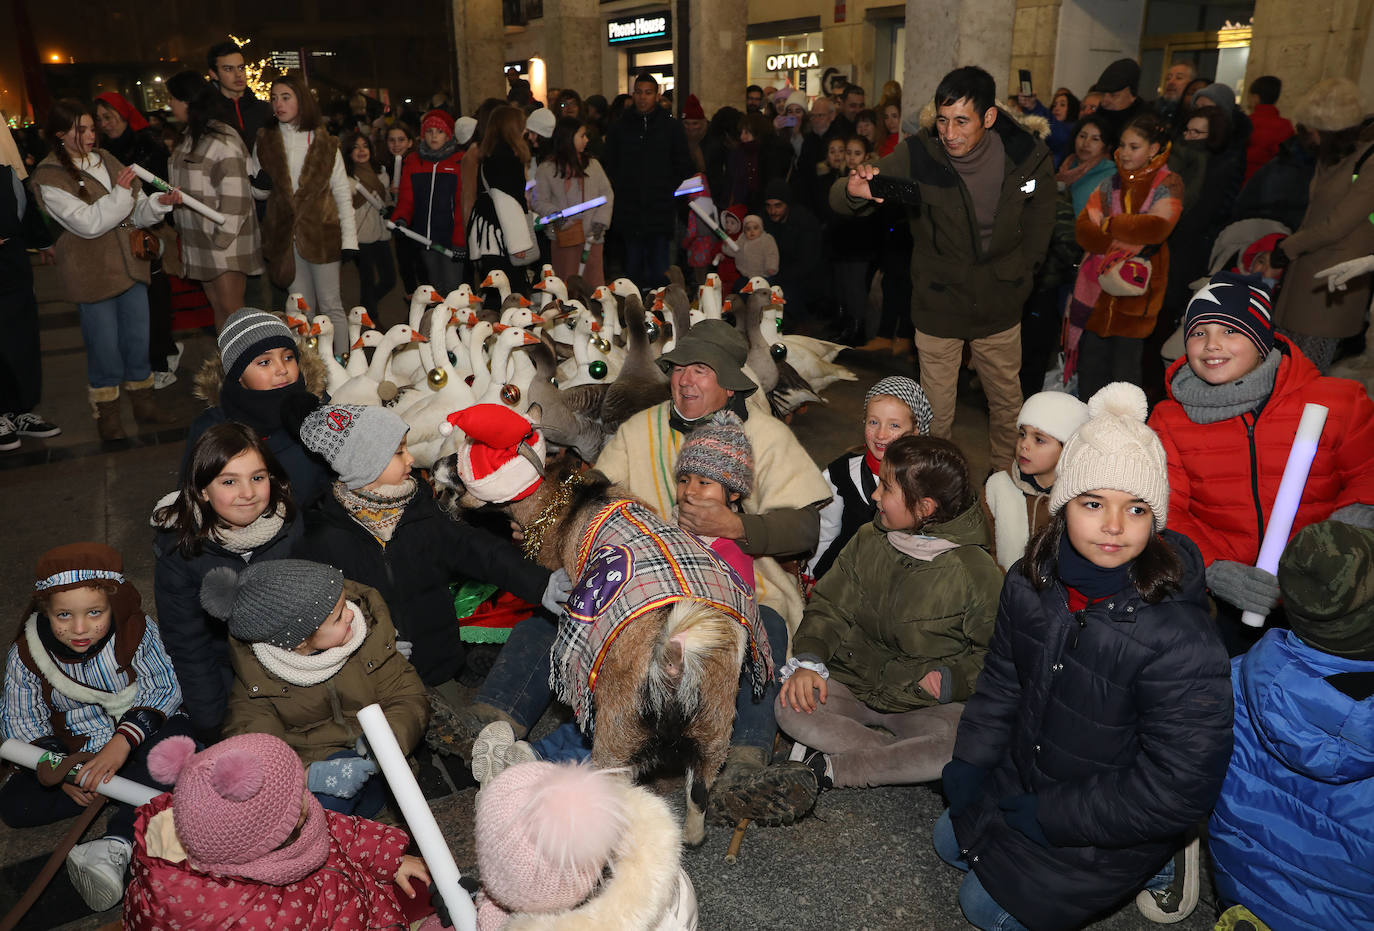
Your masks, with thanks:
M775 706L778 726L815 747L820 788L940 777L1002 589L952 442L893 442L874 500L878 516L812 592Z

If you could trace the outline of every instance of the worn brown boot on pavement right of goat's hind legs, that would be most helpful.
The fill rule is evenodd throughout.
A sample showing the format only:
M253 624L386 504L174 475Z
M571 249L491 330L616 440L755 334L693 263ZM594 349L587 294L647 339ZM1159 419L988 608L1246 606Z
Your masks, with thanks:
M749 818L764 827L794 824L816 805L816 773L807 763L768 762L763 747L731 747L710 787L706 813L716 824Z

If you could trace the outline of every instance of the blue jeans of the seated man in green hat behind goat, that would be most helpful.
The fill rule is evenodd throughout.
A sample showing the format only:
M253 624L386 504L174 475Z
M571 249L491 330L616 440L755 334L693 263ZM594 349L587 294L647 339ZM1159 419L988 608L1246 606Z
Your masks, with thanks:
M782 615L760 606L758 617L768 633L774 667L787 662L787 625ZM486 674L486 681L477 692L477 702L504 711L515 718L526 731L534 726L548 709L554 693L548 687L550 650L558 625L547 615L534 614L511 629L510 640ZM735 747L763 747L772 752L774 737L778 735L778 721L774 718L774 699L779 685L769 682L764 696L754 700L753 684L747 666L739 674L739 695L735 698L735 729L730 737ZM536 748L537 751L537 748Z

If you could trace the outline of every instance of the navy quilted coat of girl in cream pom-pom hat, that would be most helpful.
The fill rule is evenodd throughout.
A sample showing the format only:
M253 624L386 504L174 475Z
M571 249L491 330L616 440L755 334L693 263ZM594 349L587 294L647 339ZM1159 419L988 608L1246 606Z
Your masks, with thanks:
M1070 614L1063 585L1007 573L998 625L954 757L989 770L954 816L984 888L1033 931L1076 928L1121 905L1212 810L1231 759L1226 648L1204 607L1202 558L1179 592L1134 588ZM1044 847L998 803L1036 796Z

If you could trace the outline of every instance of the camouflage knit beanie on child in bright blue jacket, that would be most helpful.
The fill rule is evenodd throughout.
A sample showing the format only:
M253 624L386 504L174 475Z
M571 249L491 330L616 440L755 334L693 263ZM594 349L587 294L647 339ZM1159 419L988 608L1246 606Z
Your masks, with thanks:
M1374 531L1340 520L1303 527L1279 558L1279 589L1303 643L1374 660Z

